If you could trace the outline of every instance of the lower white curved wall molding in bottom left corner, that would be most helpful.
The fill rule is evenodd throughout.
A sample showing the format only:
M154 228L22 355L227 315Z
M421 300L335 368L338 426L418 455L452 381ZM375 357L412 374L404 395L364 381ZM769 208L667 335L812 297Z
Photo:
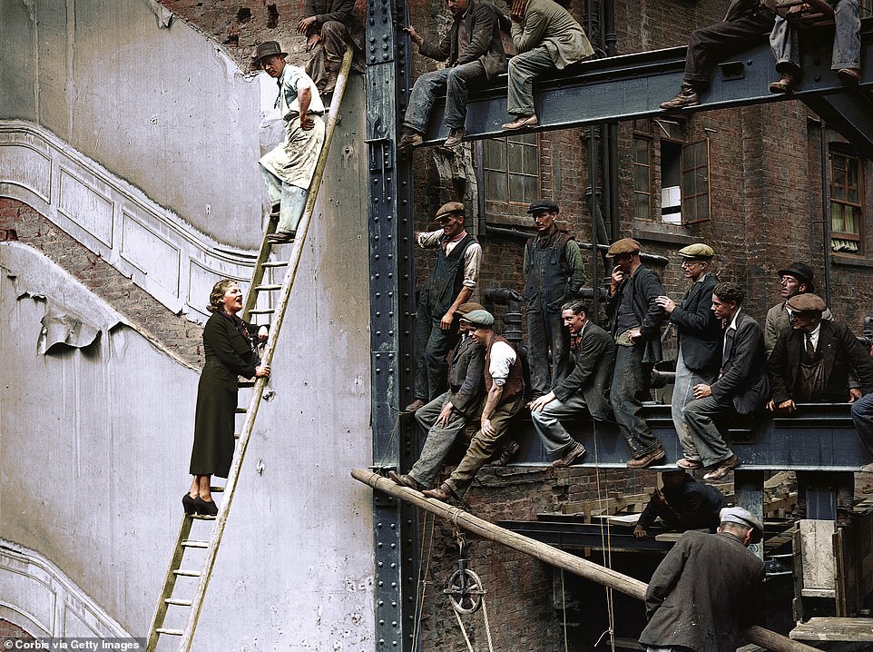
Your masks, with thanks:
M0 617L34 637L130 637L59 568L0 538Z

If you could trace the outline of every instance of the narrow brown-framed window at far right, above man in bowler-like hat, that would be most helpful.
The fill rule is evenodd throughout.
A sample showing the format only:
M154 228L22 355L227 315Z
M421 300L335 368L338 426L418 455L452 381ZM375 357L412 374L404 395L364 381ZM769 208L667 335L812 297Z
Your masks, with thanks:
M830 248L835 252L861 252L864 217L861 162L857 156L830 153Z

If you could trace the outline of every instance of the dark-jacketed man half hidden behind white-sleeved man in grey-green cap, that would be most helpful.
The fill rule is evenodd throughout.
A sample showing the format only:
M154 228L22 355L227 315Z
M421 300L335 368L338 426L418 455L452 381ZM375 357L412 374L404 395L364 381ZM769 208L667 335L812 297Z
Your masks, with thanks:
M466 424L478 419L482 412L485 349L469 335L471 324L464 321L467 313L481 310L484 310L481 305L469 302L455 311L461 339L448 366L448 391L416 411L416 420L427 432L427 439L408 474L388 472L388 478L398 485L419 491L430 488Z

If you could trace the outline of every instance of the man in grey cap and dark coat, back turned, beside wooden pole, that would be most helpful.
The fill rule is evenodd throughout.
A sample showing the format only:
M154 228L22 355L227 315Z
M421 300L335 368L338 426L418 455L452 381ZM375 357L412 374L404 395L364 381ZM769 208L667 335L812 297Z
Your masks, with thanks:
M646 588L649 652L734 652L760 613L764 564L748 547L763 535L741 507L721 509L718 534L695 530L676 541Z

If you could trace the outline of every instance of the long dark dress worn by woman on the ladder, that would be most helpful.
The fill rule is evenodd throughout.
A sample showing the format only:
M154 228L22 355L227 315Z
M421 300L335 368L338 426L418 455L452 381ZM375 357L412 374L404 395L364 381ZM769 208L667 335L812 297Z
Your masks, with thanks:
M240 324L214 312L203 328L206 363L197 385L191 475L227 478L233 459L237 377L255 375L255 353Z

